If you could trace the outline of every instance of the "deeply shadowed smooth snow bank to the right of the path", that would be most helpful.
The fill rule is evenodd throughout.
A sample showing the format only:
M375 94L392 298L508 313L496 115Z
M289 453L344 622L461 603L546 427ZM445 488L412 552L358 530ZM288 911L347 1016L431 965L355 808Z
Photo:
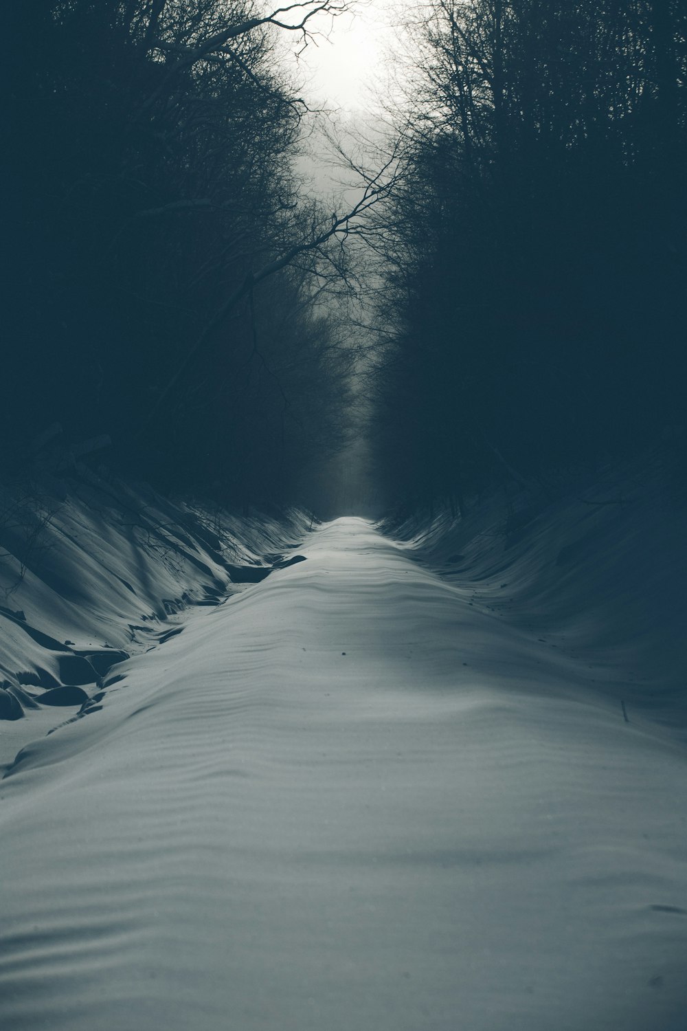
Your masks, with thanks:
M398 532L484 612L578 659L600 697L686 740L686 510L647 460Z

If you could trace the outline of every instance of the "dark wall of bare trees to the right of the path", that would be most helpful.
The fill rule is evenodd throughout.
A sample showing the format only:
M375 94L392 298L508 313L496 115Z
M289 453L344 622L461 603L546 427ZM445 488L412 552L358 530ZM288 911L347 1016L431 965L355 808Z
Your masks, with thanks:
M685 4L432 0L408 29L378 243L391 497L684 454Z

